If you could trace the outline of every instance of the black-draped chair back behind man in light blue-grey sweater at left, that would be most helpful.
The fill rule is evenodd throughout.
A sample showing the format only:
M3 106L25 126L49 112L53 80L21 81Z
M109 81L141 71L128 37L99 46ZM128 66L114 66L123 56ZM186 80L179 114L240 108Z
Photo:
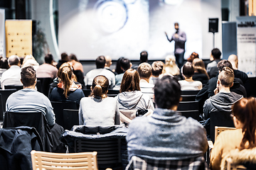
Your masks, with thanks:
M3 128L16 128L19 126L28 126L36 128L41 137L44 151L52 151L53 138L50 134L50 128L47 124L45 115L41 112L18 113L5 112Z

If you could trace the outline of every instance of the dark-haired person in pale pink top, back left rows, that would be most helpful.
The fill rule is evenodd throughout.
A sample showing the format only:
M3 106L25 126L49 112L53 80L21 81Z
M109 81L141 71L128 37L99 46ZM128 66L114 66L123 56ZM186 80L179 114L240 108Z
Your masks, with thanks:
M37 78L52 78L57 77L58 69L53 66L53 55L48 53L45 56L45 63L41 64L36 70Z

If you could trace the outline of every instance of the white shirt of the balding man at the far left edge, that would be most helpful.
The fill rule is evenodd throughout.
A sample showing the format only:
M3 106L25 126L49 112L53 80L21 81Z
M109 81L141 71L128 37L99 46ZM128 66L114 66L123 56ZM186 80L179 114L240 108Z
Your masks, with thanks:
M23 86L21 83L21 68L17 65L12 65L1 76L1 88L4 89L4 86L8 85Z

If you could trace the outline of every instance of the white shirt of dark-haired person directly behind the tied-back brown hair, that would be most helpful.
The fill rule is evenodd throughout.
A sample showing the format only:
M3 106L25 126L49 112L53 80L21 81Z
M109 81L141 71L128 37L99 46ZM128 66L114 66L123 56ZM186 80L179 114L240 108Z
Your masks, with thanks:
M102 75L107 77L110 83L110 88L113 88L115 85L115 76L114 73L112 73L108 69L92 69L90 72L87 72L85 76L85 84L86 85L92 85L92 81L95 77Z

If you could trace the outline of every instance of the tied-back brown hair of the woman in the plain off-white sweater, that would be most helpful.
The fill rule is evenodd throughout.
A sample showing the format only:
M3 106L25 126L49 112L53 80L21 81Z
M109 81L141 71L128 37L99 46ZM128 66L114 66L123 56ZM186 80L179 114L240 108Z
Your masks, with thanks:
M90 96L106 98L108 87L109 87L109 81L107 77L102 75L97 76L92 81L92 94Z

